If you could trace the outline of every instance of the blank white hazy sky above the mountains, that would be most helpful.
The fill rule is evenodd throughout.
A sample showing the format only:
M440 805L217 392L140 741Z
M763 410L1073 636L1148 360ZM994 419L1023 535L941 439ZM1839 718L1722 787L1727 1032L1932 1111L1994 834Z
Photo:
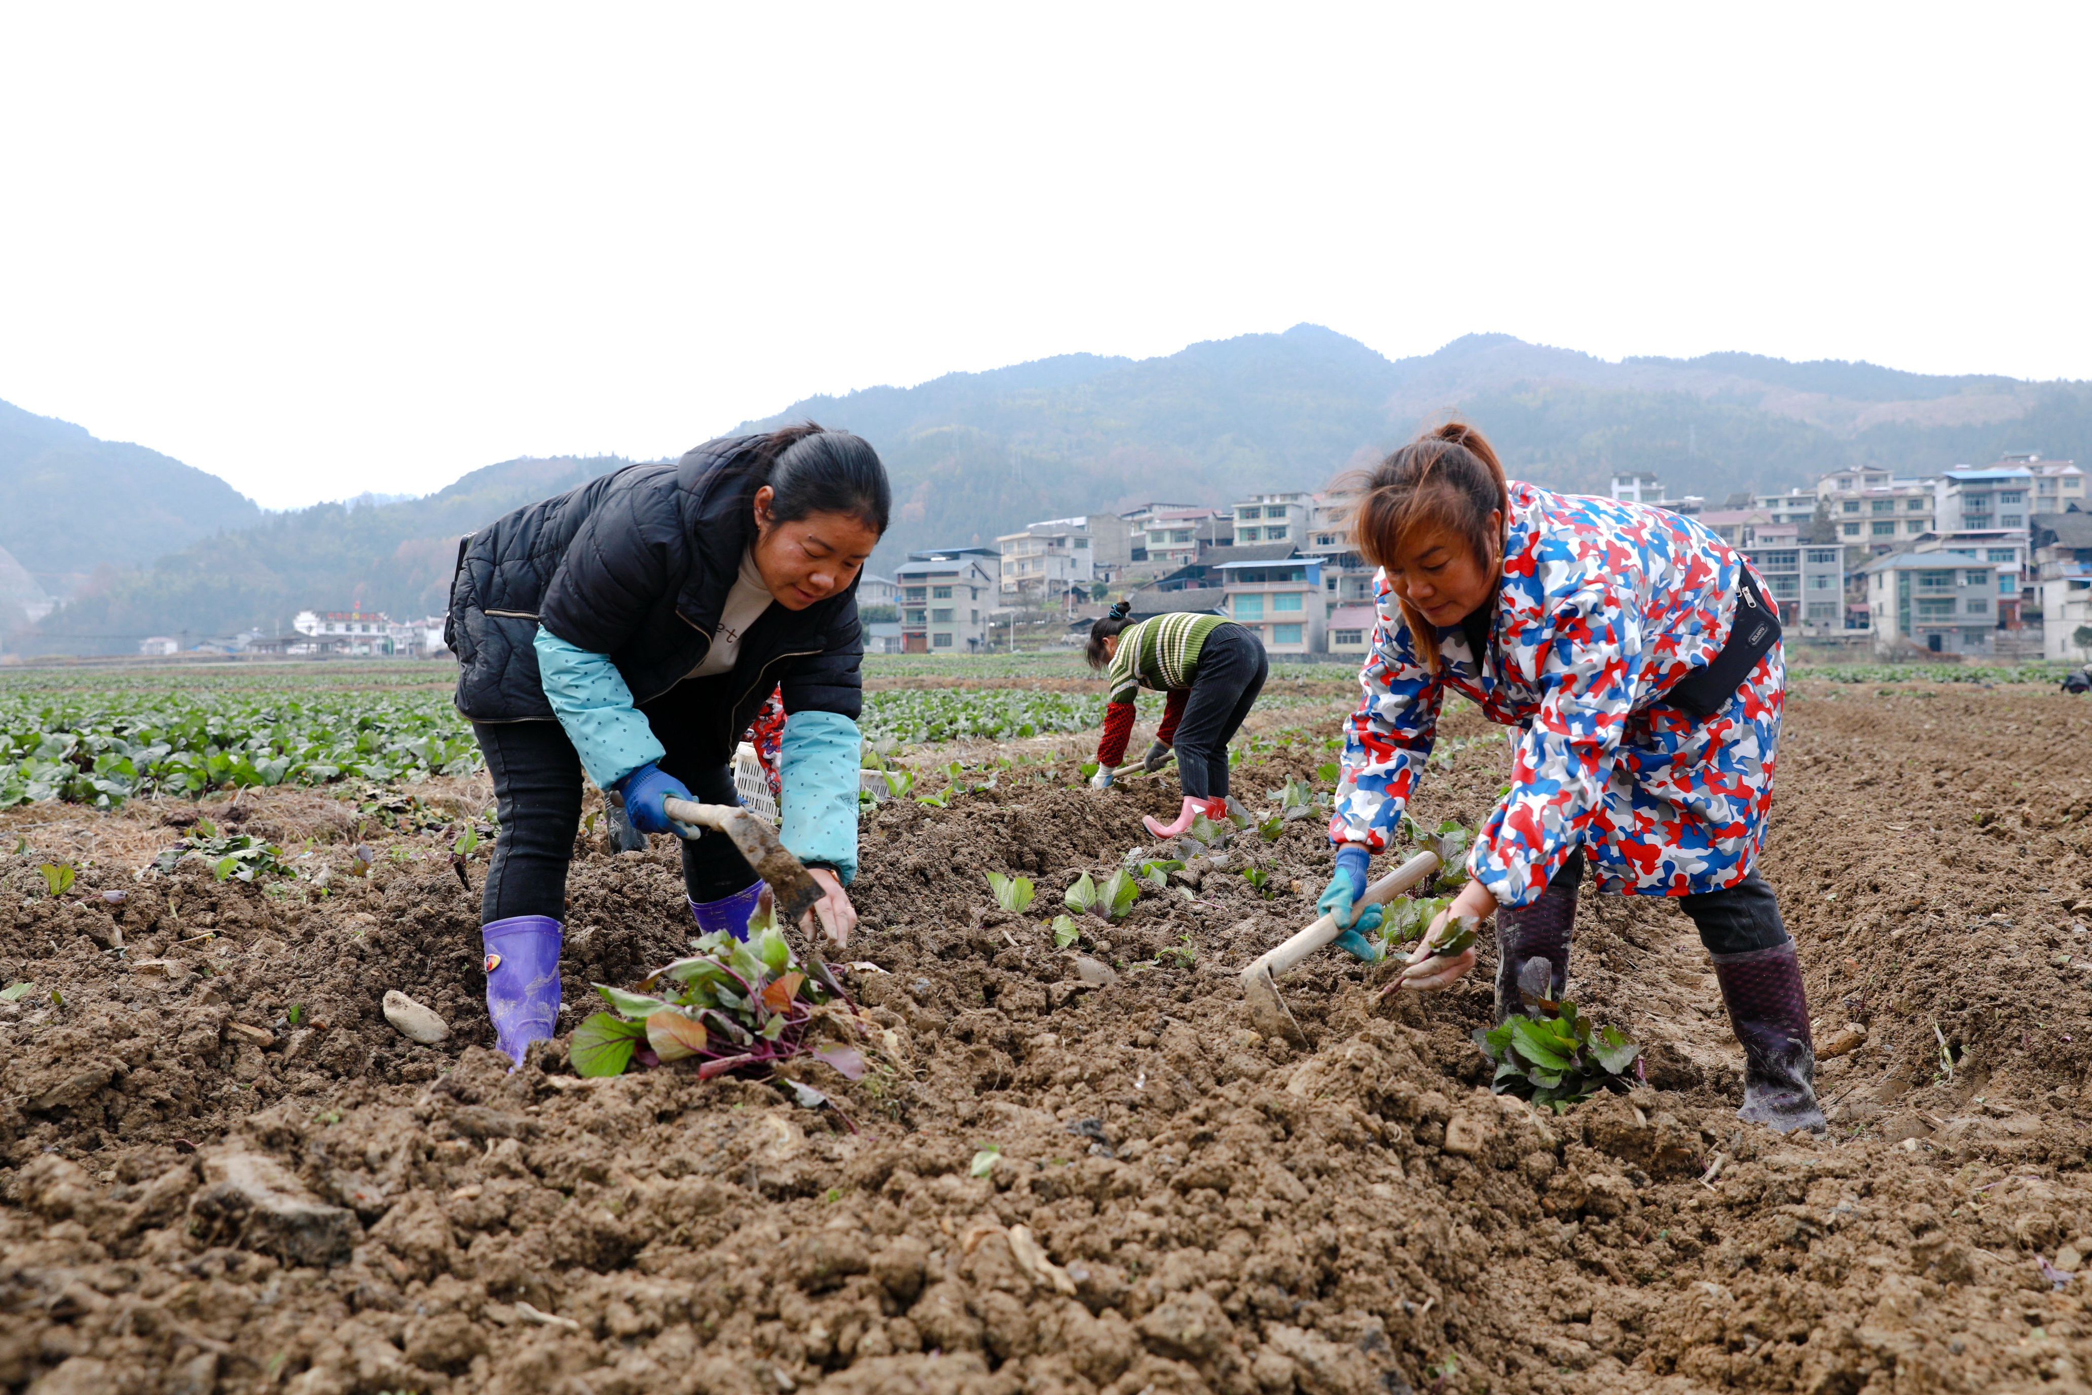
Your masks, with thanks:
M2084 4L15 4L0 399L289 506L1299 320L2092 376L2088 40Z

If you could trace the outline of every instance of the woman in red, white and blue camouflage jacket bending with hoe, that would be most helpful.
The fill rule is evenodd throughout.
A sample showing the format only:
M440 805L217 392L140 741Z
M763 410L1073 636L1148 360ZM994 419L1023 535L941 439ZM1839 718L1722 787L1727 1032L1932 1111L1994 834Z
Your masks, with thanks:
M1441 427L1358 481L1354 540L1379 623L1347 724L1322 908L1360 929L1425 772L1448 690L1521 728L1510 791L1483 820L1473 881L1433 922L1404 987L1448 987L1475 952L1431 958L1454 916L1496 916L1496 1016L1559 1000L1586 862L1600 891L1669 895L1713 956L1745 1050L1745 1119L1822 1129L1795 945L1757 851L1772 807L1787 671L1749 565L1688 517L1508 483L1479 431ZM1356 918L1356 920L1354 920Z

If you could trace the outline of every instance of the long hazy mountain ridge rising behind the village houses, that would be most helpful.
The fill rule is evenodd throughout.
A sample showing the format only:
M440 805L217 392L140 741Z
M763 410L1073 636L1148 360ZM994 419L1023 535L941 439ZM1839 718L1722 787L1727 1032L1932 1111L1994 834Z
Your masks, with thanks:
M1031 519L1322 487L1454 414L1479 425L1515 475L1565 489L1602 491L1630 466L1659 471L1674 494L1722 498L1854 460L2092 456L2084 383L1751 353L1611 364L1508 335L1387 360L1314 324L1167 358L1073 353L808 397L743 429L820 420L866 435L895 485L883 567L906 548L990 544Z

